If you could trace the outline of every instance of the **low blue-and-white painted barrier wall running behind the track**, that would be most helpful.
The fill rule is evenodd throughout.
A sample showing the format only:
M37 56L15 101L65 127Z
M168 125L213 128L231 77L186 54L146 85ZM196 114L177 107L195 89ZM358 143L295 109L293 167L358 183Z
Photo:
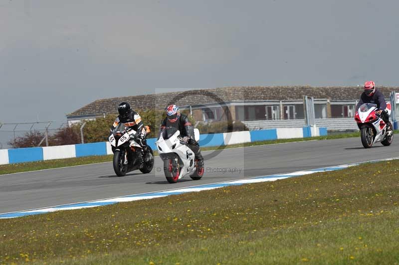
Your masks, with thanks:
M327 135L327 128L277 128L232 133L209 133L200 135L200 146L220 146L234 143L286 138L302 138L318 135ZM156 140L156 138L147 139L147 143L153 150L157 149L155 146ZM109 142L16 148L8 150L3 149L0 150L0 164L105 154L112 154L112 149Z

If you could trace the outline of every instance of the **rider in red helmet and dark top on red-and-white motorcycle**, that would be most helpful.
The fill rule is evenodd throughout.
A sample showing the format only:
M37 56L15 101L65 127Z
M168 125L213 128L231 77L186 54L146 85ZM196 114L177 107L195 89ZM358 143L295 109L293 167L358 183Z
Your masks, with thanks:
M392 125L388 112L386 111L387 103L385 102L384 95L381 91L376 89L376 85L373 81L366 81L364 86L364 92L360 95L360 100L356 106L356 110L364 103L377 104L376 114L381 116L381 119L387 124L387 135L392 133Z

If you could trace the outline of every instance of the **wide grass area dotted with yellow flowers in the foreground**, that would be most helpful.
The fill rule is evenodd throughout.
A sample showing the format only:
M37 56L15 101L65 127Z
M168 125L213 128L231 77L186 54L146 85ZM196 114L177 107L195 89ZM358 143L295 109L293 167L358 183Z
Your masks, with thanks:
M0 220L0 263L399 264L399 161Z

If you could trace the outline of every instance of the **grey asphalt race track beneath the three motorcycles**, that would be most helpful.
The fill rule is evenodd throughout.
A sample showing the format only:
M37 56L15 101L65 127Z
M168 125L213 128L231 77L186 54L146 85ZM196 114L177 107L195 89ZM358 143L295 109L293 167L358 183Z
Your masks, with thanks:
M213 151L203 154L209 152ZM0 175L0 213L390 158L398 154L399 143L395 139L391 146L377 143L365 149L360 137L356 137L225 149L205 161L201 180L194 181L187 176L176 184L166 181L159 157L155 157L153 172L133 171L125 177L115 175L111 162Z

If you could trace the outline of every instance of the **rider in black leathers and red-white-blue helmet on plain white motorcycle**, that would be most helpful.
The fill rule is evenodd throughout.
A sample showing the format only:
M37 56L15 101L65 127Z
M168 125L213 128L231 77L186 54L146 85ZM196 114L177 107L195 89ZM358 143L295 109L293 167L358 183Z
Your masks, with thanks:
M168 108L166 108L166 118L162 121L159 135L169 127L174 127L180 131L180 134L183 136L183 141L189 145L190 149L192 149L195 154L197 173L202 175L203 157L200 151L200 144L194 138L194 128L189 118L180 113L180 109L176 105L169 105Z

